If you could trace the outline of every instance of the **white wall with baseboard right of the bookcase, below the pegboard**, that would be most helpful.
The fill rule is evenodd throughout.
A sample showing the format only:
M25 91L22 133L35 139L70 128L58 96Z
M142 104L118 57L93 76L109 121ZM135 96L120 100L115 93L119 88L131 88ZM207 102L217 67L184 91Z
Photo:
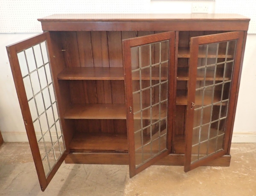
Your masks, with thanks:
M256 142L256 34L248 34L232 142Z

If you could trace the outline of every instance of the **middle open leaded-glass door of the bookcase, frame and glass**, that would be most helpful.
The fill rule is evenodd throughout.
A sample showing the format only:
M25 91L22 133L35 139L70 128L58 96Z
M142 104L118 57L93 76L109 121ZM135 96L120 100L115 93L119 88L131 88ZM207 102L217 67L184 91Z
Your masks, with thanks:
M175 32L123 40L130 177L171 152Z

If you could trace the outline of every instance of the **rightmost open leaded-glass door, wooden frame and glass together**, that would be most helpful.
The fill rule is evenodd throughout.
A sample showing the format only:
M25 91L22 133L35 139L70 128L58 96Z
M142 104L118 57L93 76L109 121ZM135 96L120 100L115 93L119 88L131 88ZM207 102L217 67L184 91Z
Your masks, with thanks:
M185 172L227 153L243 34L191 38Z

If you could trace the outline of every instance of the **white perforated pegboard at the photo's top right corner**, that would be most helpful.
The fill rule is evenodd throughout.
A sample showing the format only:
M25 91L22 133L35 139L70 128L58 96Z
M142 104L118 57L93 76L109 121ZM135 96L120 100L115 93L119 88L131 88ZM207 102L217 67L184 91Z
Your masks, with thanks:
M215 13L235 13L251 18L248 33L256 33L255 0L216 0Z

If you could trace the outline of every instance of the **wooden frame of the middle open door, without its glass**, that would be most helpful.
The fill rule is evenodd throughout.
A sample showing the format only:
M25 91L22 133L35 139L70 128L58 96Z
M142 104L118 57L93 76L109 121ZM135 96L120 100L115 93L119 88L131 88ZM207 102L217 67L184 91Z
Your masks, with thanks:
M168 84L168 106L167 106L167 149L140 167L135 165L135 141L134 141L134 115L133 115L133 92L132 92L132 65L131 65L131 47L151 44L169 40L169 84ZM158 160L172 152L172 121L174 107L174 69L175 69L175 31L156 33L136 38L123 40L123 61L124 61L124 82L125 82L125 100L126 100L126 125L129 149L129 171L130 177L135 176L142 170L154 164Z

